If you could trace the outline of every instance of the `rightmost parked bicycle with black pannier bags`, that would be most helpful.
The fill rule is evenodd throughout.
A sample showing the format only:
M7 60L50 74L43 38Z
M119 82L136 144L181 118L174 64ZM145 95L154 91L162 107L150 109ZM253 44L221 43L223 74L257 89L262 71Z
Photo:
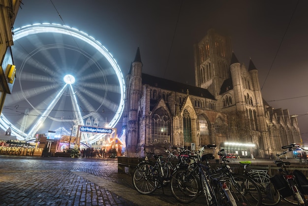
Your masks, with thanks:
M291 163L283 162L280 159L280 156L286 154L287 152L293 151L297 148L301 148L303 150L305 149L302 148L301 145L295 143L291 143L287 146L282 146L281 148L287 150L283 151L280 154L276 154L278 160L274 161L277 167L279 167L278 171L280 174L277 174L270 179L273 182L274 186L277 188L277 190L280 192L280 196L283 198L283 200L290 204L306 206L308 205L308 201L307 199L305 199L305 195L301 192L300 182L297 182L294 173L288 171L287 169L288 166L291 165Z

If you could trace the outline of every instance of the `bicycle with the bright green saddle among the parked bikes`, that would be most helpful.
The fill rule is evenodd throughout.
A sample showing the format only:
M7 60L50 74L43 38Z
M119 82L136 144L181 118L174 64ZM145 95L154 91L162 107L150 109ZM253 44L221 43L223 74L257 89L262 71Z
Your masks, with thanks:
M250 170L246 168L251 166L251 161L240 161L244 167L244 175L253 179L258 185L262 194L262 204L267 206L275 206L280 202L279 191L274 187L270 180L267 170Z

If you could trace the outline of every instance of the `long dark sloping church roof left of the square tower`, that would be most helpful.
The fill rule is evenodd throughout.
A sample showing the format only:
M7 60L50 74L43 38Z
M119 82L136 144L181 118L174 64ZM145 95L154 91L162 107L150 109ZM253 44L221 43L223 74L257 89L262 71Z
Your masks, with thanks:
M159 78L145 73L142 73L142 84L148 84L153 87L181 93L186 93L188 89L189 95L215 100L215 97L207 89Z

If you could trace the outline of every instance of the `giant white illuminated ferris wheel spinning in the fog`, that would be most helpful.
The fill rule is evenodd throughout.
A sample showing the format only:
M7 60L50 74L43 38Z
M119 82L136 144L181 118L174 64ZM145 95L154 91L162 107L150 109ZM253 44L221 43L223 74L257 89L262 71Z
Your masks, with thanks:
M92 36L58 24L14 30L16 81L0 127L20 140L85 122L114 128L124 108L125 83L108 50ZM100 136L81 142L92 144Z

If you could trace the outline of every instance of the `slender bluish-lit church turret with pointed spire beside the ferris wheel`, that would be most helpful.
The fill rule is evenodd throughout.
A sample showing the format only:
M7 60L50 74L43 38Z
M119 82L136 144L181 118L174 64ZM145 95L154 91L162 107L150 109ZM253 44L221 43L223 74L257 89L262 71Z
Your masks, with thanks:
M125 105L125 114L123 121L123 127L125 127L126 136L126 149L127 153L135 153L137 149L137 112L138 112L138 102L141 97L142 90L142 62L140 57L139 47L137 48L136 56L134 62L131 65L131 70L126 77L127 84L127 97Z

